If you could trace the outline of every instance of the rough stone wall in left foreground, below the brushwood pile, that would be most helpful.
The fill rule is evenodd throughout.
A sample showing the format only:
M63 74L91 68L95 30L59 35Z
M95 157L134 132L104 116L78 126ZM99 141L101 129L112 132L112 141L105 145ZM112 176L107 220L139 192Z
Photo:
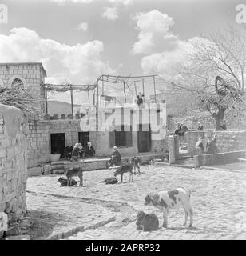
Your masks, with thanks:
M26 117L0 104L0 212L10 222L26 213L27 146Z

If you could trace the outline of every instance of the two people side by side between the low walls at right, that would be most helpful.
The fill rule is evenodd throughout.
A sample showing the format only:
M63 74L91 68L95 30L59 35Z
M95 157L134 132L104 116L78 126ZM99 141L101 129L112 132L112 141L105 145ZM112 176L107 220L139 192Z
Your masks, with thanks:
M198 141L196 142L196 154L216 154L217 152L216 135L208 137L208 142L206 143L205 148L204 139L201 137L198 138Z

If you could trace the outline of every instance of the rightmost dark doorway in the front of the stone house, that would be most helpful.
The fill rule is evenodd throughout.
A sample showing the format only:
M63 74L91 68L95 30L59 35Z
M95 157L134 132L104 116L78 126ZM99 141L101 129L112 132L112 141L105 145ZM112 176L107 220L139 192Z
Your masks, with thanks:
M149 152L151 149L151 130L150 124L139 125L139 130L137 132L137 148L138 152ZM146 129L147 128L147 129Z

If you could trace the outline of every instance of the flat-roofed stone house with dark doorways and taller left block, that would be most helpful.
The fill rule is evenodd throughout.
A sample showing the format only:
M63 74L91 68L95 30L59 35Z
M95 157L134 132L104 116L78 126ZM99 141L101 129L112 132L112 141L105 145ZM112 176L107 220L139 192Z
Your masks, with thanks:
M42 86L45 78L46 70L42 63L0 64L0 86L19 83L37 98L38 114L29 117L29 167L50 162L50 154L60 153L63 156L65 146L74 146L76 142L81 142L84 146L87 142L92 142L98 157L108 157L113 146L118 146L122 156L167 150L165 104L145 110L115 108L108 110L108 113L101 108L90 118L90 124L95 129L88 130L85 129L85 120L81 119L46 120L49 110L47 93ZM105 122L113 116L116 122L112 121L110 131L101 129L105 126L101 120ZM139 122L136 122L137 118ZM117 122L120 119L122 122Z

